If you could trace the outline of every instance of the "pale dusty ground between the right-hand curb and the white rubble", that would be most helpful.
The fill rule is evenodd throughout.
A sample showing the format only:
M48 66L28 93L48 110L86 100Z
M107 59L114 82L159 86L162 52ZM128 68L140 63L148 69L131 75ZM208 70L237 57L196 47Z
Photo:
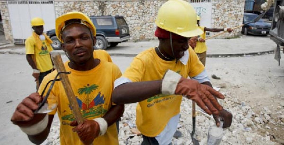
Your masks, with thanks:
M221 90L230 92L231 96L249 104L256 114L261 114L264 107L267 107L271 111L271 118L276 119L284 113L284 60L278 66L273 58L274 54L207 58L206 68L210 75L215 74L221 78L211 79L212 84L222 86L225 83L226 87ZM258 133L264 135L268 131L272 141L284 143L284 125L270 122L264 126L266 125L270 129L263 127L257 129Z

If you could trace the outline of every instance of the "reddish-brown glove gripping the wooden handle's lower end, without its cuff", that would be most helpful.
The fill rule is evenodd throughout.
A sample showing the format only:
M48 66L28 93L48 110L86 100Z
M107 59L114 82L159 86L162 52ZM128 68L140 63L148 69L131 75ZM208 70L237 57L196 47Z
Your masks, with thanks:
M99 123L95 120L85 119L85 122L79 125L78 122L74 120L70 123L70 126L76 126L72 129L73 132L77 132L80 140L86 145L93 143L94 139L97 138L100 133Z

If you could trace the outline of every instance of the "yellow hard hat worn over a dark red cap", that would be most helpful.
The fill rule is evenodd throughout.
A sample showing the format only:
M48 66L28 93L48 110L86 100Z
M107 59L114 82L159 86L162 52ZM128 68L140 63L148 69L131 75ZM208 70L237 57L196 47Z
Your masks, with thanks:
M155 23L161 29L183 37L198 36L203 31L196 26L194 8L183 0L169 0L160 7Z

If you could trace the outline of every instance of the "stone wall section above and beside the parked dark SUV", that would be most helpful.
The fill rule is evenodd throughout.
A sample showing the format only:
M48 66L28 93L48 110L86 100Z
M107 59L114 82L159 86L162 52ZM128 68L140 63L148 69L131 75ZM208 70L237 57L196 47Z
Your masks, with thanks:
M88 16L122 15L130 28L131 40L154 39L154 23L159 7L165 1L55 1L56 17L70 11Z

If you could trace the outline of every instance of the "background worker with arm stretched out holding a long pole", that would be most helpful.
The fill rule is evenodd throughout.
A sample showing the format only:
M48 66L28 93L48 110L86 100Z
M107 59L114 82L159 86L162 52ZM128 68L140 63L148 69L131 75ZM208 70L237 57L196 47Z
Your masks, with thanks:
M194 48L194 51L197 54L197 56L199 57L199 60L205 66L206 52L207 52L207 46L206 46L206 42L205 42L206 31L209 31L209 32L227 31L227 32L231 33L233 30L231 30L230 28L224 28L224 29L207 28L207 27L200 26L199 23L200 23L200 16L197 16L197 25L203 31L203 34L199 35L199 37L196 39L197 42L196 42L196 47ZM193 44L191 44L191 43L193 43ZM189 42L189 44L195 46L194 42Z

